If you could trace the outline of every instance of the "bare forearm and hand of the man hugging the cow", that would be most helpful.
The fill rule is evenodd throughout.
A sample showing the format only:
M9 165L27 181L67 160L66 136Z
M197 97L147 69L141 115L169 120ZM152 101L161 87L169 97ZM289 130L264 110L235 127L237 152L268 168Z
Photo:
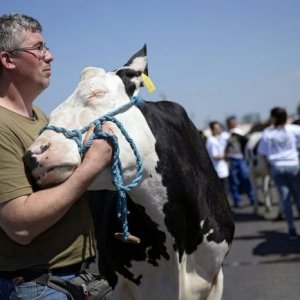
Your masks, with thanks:
M0 205L0 226L19 244L29 244L70 209L110 162L112 149L106 140L95 140L83 162L62 184L17 197Z

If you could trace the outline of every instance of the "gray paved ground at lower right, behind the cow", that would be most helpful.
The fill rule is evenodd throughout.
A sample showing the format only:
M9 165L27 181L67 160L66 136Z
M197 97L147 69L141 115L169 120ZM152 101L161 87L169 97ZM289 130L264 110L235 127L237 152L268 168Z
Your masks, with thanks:
M274 222L271 213L259 214L244 201L234 210L235 238L224 265L223 300L300 300L299 238L290 241L285 221Z

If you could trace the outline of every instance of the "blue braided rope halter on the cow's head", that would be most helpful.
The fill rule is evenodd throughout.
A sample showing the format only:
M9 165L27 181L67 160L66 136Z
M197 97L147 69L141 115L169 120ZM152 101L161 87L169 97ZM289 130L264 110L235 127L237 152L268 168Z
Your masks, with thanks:
M112 182L118 192L118 203L117 203L118 218L122 224L122 232L123 232L122 239L125 240L126 242L128 241L128 237L130 235L130 233L128 231L128 221L127 221L127 215L129 212L127 209L126 193L131 191L134 187L136 187L138 185L139 181L141 180L142 174L143 174L143 163L142 163L141 156L136 148L135 143L129 137L129 135L128 135L127 131L125 130L125 128L123 127L123 125L113 116L128 110L133 105L139 106L139 105L142 105L143 103L144 103L144 100L141 97L134 96L131 98L131 100L128 103L113 110L110 113L107 113L106 115L104 115L102 117L99 117L98 119L94 120L89 125L81 128L81 129L68 130L63 127L58 127L58 126L54 126L54 125L46 125L40 131L40 134L41 134L45 130L53 130L57 133L62 133L68 139L73 139L78 146L78 150L79 150L81 157L83 157L84 153L88 150L88 148L91 146L93 140L95 140L95 139L106 138L112 142L112 144L113 144L112 167L111 167ZM136 173L135 178L128 185L124 185L124 182L123 182L123 172L122 172L121 161L119 158L118 139L114 135L108 134L106 132L102 132L102 125L104 122L107 122L107 121L113 122L118 126L118 128L120 129L121 133L124 135L126 141L129 143L129 145L136 157L137 173ZM94 132L89 137L88 142L85 145L83 145L82 135L86 131L88 131L89 128L93 125L95 126Z

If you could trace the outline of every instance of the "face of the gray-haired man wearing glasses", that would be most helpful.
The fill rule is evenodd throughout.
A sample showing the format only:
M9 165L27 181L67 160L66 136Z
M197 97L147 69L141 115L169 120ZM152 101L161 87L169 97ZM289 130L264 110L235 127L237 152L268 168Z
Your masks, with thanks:
M24 31L23 42L19 48L44 45L44 40L39 32ZM30 86L40 93L50 83L51 66L53 56L49 51L41 52L38 49L16 51L12 58L16 66L15 80L19 84Z

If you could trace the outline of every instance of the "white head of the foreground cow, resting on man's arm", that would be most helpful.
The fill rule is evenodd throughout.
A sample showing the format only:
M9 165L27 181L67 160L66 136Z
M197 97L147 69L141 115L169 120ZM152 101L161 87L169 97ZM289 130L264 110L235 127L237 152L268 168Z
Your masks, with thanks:
M66 129L80 129L87 126L95 119L130 101L142 84L142 73L147 73L146 45L122 68L115 71L105 72L96 67L85 68L72 95L50 114L49 125ZM130 110L138 114L137 108ZM126 119L124 115L118 116L121 122ZM122 143L124 139L119 136L118 128L113 124L111 127ZM85 134L82 139L84 138ZM120 155L123 155L124 159L126 157L128 161L130 155L126 153L126 146L123 148L123 154ZM27 172L40 187L63 182L80 162L81 156L76 142L52 130L43 131L24 155ZM123 163L126 167L126 161L122 161Z

